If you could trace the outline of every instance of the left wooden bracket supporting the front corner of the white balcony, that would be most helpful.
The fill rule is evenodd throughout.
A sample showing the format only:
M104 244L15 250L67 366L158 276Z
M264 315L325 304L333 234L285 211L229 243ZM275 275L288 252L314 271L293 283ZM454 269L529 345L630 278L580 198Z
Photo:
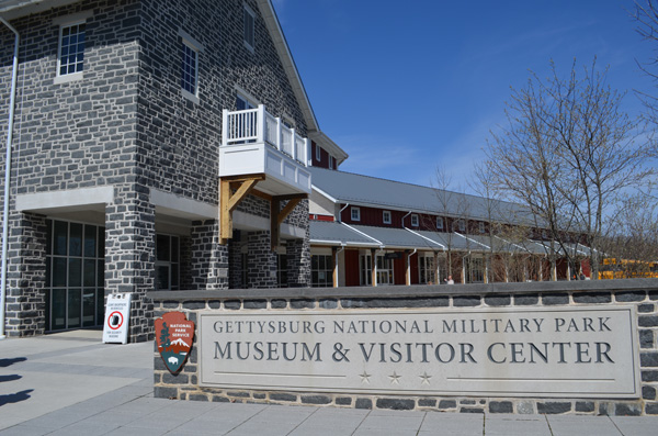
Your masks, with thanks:
M265 175L223 177L219 179L220 244L227 244L228 239L232 237L232 212L261 180L265 180ZM231 189L236 189L236 191L231 193Z

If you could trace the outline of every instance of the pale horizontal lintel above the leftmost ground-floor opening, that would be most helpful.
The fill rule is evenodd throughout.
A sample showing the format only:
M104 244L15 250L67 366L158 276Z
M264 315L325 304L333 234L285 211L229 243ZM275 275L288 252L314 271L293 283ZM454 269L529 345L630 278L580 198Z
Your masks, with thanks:
M114 187L82 188L16 195L16 211L107 204L114 201Z

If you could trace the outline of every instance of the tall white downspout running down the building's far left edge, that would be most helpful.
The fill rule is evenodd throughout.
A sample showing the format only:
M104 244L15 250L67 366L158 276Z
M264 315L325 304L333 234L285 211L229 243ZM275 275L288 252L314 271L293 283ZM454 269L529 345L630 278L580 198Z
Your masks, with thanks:
M0 339L4 339L4 304L7 301L7 247L8 247L8 225L9 225L9 186L11 181L11 145L13 141L13 118L14 101L16 96L16 78L19 75L19 32L11 26L3 18L0 21L14 33L14 58L11 72L11 92L9 98L9 122L7 125L7 157L4 158L4 212L2 214L2 276L0 278Z

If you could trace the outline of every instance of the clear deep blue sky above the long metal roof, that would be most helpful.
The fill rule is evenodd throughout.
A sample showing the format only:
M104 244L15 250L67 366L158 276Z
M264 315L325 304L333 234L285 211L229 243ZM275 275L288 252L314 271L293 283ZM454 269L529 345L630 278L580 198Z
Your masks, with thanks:
M321 131L350 155L343 171L438 186L443 168L451 189L472 191L511 89L546 78L551 60L566 76L595 57L633 118L634 91L658 93L637 66L658 43L637 34L633 0L273 4Z

